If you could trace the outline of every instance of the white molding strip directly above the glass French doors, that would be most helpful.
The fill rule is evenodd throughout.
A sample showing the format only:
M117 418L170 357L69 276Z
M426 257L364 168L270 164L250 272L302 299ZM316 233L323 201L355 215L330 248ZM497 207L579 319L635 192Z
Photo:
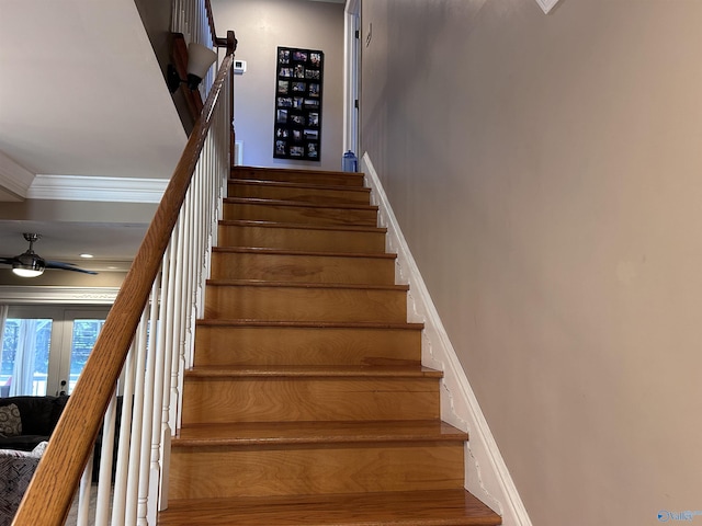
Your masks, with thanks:
M112 305L118 287L1 286L0 304Z

